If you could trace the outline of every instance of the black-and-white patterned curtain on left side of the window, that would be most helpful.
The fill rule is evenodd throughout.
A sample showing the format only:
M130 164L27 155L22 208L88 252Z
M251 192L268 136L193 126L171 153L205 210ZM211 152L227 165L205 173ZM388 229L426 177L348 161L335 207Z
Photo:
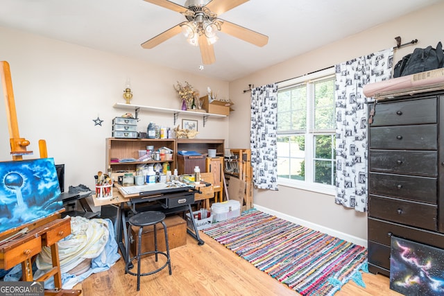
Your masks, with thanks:
M278 85L256 87L251 92L250 148L253 185L278 190L276 129Z

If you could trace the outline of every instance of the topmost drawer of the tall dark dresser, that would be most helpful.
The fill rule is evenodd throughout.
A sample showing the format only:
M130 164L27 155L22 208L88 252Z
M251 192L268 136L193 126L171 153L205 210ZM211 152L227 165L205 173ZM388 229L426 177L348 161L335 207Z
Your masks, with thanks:
M373 105L369 106L369 110ZM402 102L377 103L371 126L436 123L436 97Z

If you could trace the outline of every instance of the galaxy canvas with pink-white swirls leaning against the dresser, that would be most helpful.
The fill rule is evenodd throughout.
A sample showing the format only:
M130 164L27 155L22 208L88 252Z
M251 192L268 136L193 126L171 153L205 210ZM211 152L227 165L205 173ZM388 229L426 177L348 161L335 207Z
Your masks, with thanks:
M403 295L444 295L444 250L392 236L390 288Z

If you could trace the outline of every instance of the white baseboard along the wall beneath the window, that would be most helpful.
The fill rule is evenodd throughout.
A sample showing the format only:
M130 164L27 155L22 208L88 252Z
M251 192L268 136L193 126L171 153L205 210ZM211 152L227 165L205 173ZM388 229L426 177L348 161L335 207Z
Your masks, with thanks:
M306 220L302 220L302 219L298 219L296 217L287 215L287 214L282 214L279 211L274 211L272 209L268 209L266 207L261 207L257 204L253 204L253 206L255 207L255 209L259 210L259 211L263 211L266 214L270 214L273 216L276 216L278 218L290 221L292 223L295 223L297 225L301 225L304 227L308 227L310 229L316 230L318 232L322 232L324 234L328 234L330 236L335 236L337 238L341 238L344 241L348 241L350 243L354 243L355 245L361 245L363 247L367 247L367 240L363 239L363 238L359 238L357 236L350 236L350 234L345 234L343 232L338 232L334 229L328 228L328 227L323 227L321 225L318 224L314 224L311 222L308 222Z

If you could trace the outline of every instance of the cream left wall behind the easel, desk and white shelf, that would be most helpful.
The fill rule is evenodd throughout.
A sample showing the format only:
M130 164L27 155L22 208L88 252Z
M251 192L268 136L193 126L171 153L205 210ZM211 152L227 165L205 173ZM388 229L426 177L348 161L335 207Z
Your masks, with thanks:
M202 94L210 86L228 97L228 82L1 27L0 60L10 64L20 136L31 141L28 150L34 151L24 158L38 158L38 140L45 139L49 157L65 164L66 189L78 184L93 189L94 175L105 171L105 138L111 137L112 119L128 112L112 107L125 103L127 77L131 103L138 105L180 109L173 88L177 81L190 82ZM0 103L1 161L12 159L5 108ZM94 126L97 116L102 126ZM146 131L149 121L174 127L173 114L141 112L139 118L139 131ZM228 118L210 118L203 128L200 116L180 115L176 126L184 118L198 120L200 139L228 139Z

